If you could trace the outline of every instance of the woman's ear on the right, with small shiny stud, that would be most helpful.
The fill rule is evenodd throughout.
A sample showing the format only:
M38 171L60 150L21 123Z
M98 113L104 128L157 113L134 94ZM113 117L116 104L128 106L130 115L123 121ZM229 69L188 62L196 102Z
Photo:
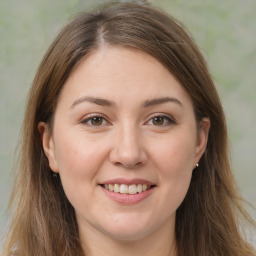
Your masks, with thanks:
M210 119L206 117L203 118L198 125L194 167L199 162L200 158L202 157L205 151L207 141L208 141L210 126L211 126Z

